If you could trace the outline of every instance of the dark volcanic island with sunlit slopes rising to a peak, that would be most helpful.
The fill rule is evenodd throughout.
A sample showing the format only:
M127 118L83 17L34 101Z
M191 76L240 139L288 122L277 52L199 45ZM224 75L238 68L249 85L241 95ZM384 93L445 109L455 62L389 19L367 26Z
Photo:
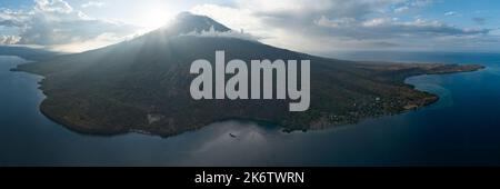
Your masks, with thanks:
M231 31L202 16L181 13L176 21L136 39L76 54L20 64L17 70L44 77L50 119L91 135L131 131L168 137L209 123L246 119L286 131L324 129L362 119L401 113L439 97L414 90L404 79L418 74L476 71L479 64L359 62L321 58L231 37L186 34ZM194 101L189 93L192 61L227 59L311 60L311 106L288 111L288 100Z

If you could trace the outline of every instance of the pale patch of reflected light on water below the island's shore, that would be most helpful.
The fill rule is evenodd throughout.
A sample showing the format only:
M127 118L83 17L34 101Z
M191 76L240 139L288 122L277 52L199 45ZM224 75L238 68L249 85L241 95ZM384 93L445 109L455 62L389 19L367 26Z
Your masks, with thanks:
M203 143L190 151L180 163L183 166L234 165L252 162L269 153L267 147L282 135L278 129L266 129L252 122L227 121L209 126ZM231 136L232 135L232 136ZM197 136L193 136L197 137Z

